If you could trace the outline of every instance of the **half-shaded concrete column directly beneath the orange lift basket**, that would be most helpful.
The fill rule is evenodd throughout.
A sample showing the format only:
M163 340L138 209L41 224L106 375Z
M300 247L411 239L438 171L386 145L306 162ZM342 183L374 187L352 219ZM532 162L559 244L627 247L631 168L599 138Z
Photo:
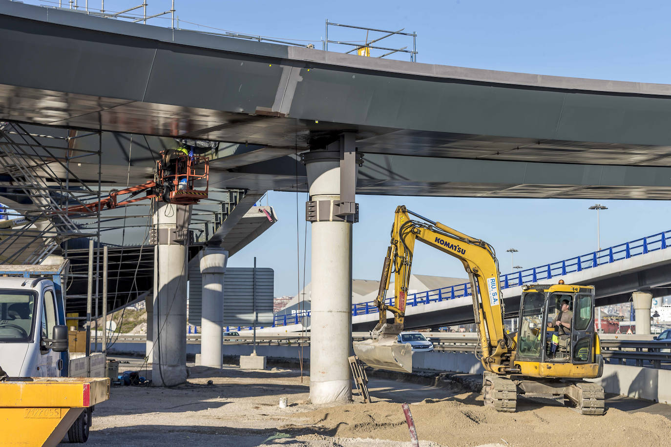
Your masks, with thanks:
M187 245L190 206L156 202L152 383L187 380Z

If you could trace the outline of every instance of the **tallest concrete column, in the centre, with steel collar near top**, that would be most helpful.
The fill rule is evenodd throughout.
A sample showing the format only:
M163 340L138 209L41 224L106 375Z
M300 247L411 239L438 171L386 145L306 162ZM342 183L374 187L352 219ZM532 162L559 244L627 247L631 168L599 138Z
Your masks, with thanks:
M346 141L347 143L347 141ZM354 151L354 138L350 137ZM310 401L338 404L352 399L350 365L352 349L352 216L335 215L341 196L343 138L329 151L306 155L311 220L311 332ZM333 150L335 149L335 151ZM350 167L351 168L351 167ZM356 182L355 175L350 176ZM355 184L346 185L354 201ZM343 188L343 189L345 189ZM331 202L331 200L333 202ZM341 209L346 209L343 206Z

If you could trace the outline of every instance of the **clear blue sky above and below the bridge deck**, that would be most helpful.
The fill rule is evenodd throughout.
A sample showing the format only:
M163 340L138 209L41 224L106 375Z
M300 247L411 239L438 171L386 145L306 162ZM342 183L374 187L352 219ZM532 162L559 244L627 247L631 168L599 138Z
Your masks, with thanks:
M53 5L46 1L26 3ZM57 2L56 2L57 3ZM66 4L67 1L64 1ZM79 0L84 5L85 0ZM108 10L120 11L142 3L105 1ZM169 0L149 1L149 13L170 9ZM324 21L381 29L417 31L418 62L508 70L557 76L671 83L668 57L666 1L204 1L177 0L176 14L183 28L207 25L226 31L303 40L321 48ZM89 1L99 7L100 1ZM187 23L191 22L191 23ZM167 19L154 19L169 25ZM205 28L200 28L205 29ZM365 31L329 29L334 40L364 40ZM389 46L404 46L389 42ZM411 44L411 43L410 43ZM339 50L329 46L329 50ZM343 51L343 50L339 50ZM405 58L407 56L399 56ZM515 264L533 267L573 257L597 246L596 212L587 210L594 200L521 200L491 198L417 198L358 196L360 222L354 225L355 278L378 279L389 243L389 229L398 204L405 204L433 220L491 243L499 255L501 271ZM263 199L264 204L266 198ZM270 192L268 203L279 221L246 249L231 257L229 266L260 267L276 272L276 296L294 295L303 282L305 194ZM607 247L671 229L668 202L601 200L601 246ZM297 259L297 235L300 249ZM309 225L307 241L309 245ZM465 277L458 261L417 247L413 272ZM309 281L309 246L307 247ZM300 272L300 279L298 275Z

